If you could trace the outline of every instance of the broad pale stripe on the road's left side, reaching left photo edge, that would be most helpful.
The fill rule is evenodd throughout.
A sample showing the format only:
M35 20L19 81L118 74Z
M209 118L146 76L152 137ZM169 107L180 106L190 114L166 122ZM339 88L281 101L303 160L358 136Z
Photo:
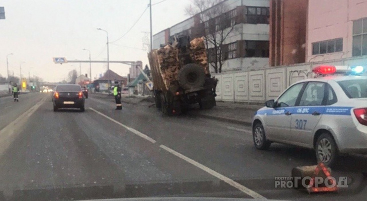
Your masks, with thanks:
M19 129L24 129L23 126L29 117L38 110L38 108L46 101L46 99L47 97L42 98L40 102L31 107L12 123L8 124L5 128L0 130L0 155L3 155L3 153L8 149L17 135L19 135Z

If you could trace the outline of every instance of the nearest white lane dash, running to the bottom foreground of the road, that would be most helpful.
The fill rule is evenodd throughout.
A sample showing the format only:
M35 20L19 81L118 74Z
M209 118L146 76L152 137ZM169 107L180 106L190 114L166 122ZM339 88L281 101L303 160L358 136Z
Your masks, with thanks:
M186 157L186 156L184 156L184 155L182 155L182 154L174 151L173 149L170 149L170 148L168 148L168 147L166 147L164 145L160 145L159 147L162 148L162 149L164 149L164 150L166 150L166 151L168 151L169 153L177 156L178 158L180 158L182 160L185 160L186 162L189 162L189 163L195 165L196 167L198 167L198 168L200 168L200 169L208 172L209 174L211 174L211 175L213 175L213 176L221 179L222 181L224 181L224 182L228 183L229 185L231 185L231 186L233 186L233 187L241 190L242 192L250 195L253 198L266 199L264 196L258 194L257 192L255 192L255 191L253 191L253 190L251 190L251 189L249 189L249 188L247 188L247 187L245 187L245 186L237 183L236 181L234 181L234 180L232 180L232 179L230 179L230 178L228 178L228 177L226 177L226 176L224 176L224 175L222 175L222 174L220 174L220 173L218 173L218 172L210 169L209 167L207 167L205 165L202 165L202 164L196 162L195 160L193 160L193 159L191 159L189 157Z

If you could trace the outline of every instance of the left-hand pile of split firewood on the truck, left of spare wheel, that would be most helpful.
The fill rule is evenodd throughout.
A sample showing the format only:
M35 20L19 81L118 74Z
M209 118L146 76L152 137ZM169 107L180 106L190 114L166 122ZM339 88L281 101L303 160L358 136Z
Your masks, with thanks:
M166 45L164 48L160 48L157 53L163 81L169 87L172 81L177 80L180 69L178 49L171 45Z

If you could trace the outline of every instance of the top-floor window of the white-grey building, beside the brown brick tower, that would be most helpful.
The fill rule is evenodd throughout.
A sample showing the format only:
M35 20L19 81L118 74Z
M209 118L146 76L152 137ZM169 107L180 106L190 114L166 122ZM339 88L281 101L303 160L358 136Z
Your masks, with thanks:
M267 7L246 7L245 15L249 24L269 24L269 8Z

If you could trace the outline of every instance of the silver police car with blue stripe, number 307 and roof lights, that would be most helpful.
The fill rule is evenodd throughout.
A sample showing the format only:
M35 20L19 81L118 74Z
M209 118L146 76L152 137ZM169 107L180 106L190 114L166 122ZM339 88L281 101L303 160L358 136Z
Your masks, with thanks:
M342 154L367 153L367 76L362 66L318 66L315 78L298 81L255 113L253 142L272 142L316 151L333 166Z

